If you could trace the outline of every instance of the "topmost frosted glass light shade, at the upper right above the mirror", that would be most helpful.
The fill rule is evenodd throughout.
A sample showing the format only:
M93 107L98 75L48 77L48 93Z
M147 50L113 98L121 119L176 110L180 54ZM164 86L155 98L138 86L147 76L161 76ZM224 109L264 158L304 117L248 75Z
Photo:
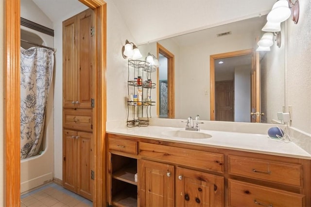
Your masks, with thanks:
M267 16L267 20L272 23L283 22L292 14L287 0L278 0L273 5L271 12Z

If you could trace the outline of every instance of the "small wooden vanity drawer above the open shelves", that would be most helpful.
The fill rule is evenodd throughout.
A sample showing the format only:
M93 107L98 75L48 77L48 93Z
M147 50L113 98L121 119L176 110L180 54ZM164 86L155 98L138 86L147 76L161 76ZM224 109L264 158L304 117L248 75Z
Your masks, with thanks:
M136 141L123 140L109 137L109 149L126 152L132 155L138 154L138 144Z

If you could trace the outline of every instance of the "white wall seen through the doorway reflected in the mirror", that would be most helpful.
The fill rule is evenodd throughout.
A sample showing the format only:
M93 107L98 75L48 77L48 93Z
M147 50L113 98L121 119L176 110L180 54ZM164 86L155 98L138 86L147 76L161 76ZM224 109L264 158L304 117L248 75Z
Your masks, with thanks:
M234 68L234 121L250 122L251 65Z

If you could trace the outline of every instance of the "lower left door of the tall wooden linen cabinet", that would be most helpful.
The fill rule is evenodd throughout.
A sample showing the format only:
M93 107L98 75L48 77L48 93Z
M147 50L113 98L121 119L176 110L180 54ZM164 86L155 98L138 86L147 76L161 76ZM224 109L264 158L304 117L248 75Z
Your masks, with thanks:
M77 191L77 132L64 130L63 133L63 186Z

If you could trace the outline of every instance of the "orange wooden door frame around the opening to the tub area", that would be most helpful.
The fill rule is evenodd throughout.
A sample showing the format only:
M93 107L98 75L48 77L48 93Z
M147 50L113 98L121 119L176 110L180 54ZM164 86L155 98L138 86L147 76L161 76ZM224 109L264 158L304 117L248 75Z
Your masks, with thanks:
M104 0L79 0L96 14L96 73L94 82L95 182L93 205L106 204L105 123L106 123L106 3ZM20 206L20 0L4 1L4 205Z

